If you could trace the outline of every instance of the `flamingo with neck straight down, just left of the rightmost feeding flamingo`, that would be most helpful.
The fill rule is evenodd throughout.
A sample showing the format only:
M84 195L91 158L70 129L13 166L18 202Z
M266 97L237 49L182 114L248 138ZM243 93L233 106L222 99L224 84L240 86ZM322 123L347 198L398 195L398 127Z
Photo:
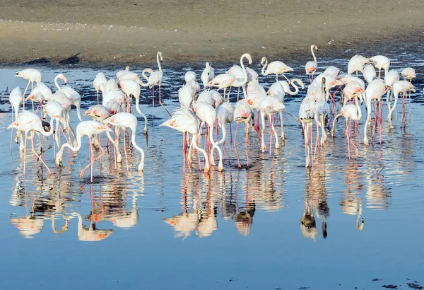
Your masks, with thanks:
M367 139L367 125L368 122L370 122L371 119L371 100L378 101L379 103L379 110L380 110L380 144L382 143L381 134L382 134L382 95L386 93L386 91L390 87L384 83L382 79L375 79L372 81L365 90L366 100L367 100L367 121L365 122L365 128L364 128L364 144L368 145L368 139ZM375 110L375 124L374 128L377 125L377 105L374 103L374 110ZM374 134L373 134L374 136Z

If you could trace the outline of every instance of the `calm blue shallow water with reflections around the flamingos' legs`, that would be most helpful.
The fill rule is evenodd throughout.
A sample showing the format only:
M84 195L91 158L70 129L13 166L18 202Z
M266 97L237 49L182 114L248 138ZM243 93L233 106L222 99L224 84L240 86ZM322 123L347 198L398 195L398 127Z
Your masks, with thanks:
M424 63L420 55L398 53L389 55L393 68L413 66L418 72L413 81L418 90L406 127L399 124L398 110L394 129L383 124L382 144L376 138L364 147L363 117L355 138L359 156L349 159L344 121L338 122L336 136L319 150L313 169L304 167L300 124L285 115L286 141L271 158L269 151L259 151L252 133L247 169L241 127L237 146L242 169L237 168L232 149L223 173L183 173L182 136L158 127L167 114L156 106L153 118L151 91L143 90L141 109L148 114L150 127L147 137L141 130L136 137L146 151L143 174L136 171L140 155L134 151L129 152L129 170L125 162L115 169L106 156L101 169L95 163L93 184L89 171L80 179L88 163L84 137L78 154L65 151L63 168L54 165L53 149L45 152L45 162L54 172L51 176L28 151L24 178L18 145L8 149L11 113L4 93L0 105L2 288L370 289L396 284L406 289L414 280L419 284L424 279L420 226L424 133L418 127L424 113L419 74ZM320 66L346 70L347 63L327 59ZM305 62L290 64L296 76L303 74ZM201 65L167 69L163 64L162 93L168 110L177 106L177 88L185 71L195 69L200 74ZM220 72L225 65L214 66ZM25 88L25 80L13 76L19 69L0 70L1 90ZM85 108L95 102L91 82L98 71L40 70L49 86L55 74L66 74ZM113 76L114 72L105 73ZM302 79L306 83L307 78ZM273 78L260 80L267 88ZM286 97L288 112L298 115L305 91ZM72 119L76 127L74 112ZM140 118L139 122L143 124ZM39 150L38 141L36 145ZM229 149L226 144L227 156ZM314 228L300 224L305 204L312 207Z

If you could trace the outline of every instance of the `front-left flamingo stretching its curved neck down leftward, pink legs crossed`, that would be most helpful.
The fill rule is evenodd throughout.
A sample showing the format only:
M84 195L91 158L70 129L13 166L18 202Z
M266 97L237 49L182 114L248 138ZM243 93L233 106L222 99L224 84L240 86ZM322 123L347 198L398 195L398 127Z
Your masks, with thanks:
M84 135L87 135L88 139L91 140L93 135L97 135L97 134L100 134L102 132L106 132L107 137L110 139L110 141L112 141L112 143L114 143L114 140L110 136L110 132L112 132L112 129L110 129L110 127L107 127L105 124L102 124L102 123L97 122L97 121L83 121L83 122L79 123L76 126L77 146L72 146L69 143L63 144L60 147L60 150L56 154L56 164L58 166L62 165L62 156L64 154L64 149L66 147L71 149L73 152L79 151L79 149L81 149L81 145L82 145L81 139ZM105 150L103 150L102 146L100 146L101 153L97 158L94 159L93 145L91 144L91 142L88 142L88 144L90 145L90 153L91 153L90 154L90 163L88 163L88 166L86 166L86 168L83 168L83 170L81 170L80 178L83 177L86 169L88 167L90 167L90 181L93 182L93 163L95 161L97 161L99 158L101 158L103 155L105 155Z

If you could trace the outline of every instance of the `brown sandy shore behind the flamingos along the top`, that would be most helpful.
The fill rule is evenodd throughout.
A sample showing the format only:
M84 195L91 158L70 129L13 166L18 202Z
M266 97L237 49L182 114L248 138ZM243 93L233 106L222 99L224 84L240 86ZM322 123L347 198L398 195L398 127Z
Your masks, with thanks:
M311 44L331 56L424 40L422 0L309 2L0 0L0 61L152 63L159 50L170 63L287 61Z

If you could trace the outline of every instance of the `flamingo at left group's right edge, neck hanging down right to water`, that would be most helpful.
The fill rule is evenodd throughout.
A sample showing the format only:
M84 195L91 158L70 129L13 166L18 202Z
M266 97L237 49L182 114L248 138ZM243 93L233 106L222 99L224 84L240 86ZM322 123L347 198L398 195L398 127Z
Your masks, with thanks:
M140 151L141 153L141 161L139 163L138 170L143 171L144 168L144 151L136 144L136 130L137 130L137 118L129 112L119 112L112 117L107 118L103 121L105 124L111 124L112 126L119 127L123 131L127 128L131 129L131 142L133 146ZM125 132L125 131L124 131ZM119 137L114 142L114 146L117 151L119 151L118 144ZM124 149L125 149L125 137L124 137ZM126 156L126 151L125 151ZM126 166L128 167L128 158L126 158Z

